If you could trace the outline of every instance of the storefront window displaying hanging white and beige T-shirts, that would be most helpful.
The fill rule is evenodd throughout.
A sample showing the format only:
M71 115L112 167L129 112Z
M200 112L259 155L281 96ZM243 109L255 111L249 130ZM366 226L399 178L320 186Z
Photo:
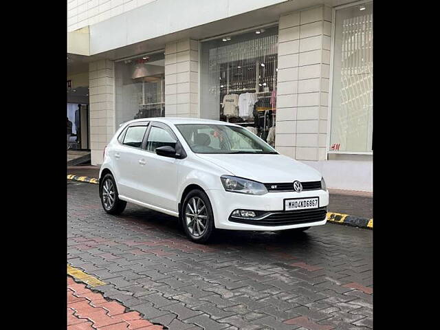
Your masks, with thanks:
M201 118L234 122L274 145L278 27L256 32L201 44Z

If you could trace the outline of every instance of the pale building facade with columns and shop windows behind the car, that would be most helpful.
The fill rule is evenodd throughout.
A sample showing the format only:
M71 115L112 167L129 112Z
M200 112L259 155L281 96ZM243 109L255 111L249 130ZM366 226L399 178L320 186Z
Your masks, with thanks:
M92 164L127 120L245 126L373 190L373 2L68 0L68 80L88 76ZM68 90L72 93L72 87Z

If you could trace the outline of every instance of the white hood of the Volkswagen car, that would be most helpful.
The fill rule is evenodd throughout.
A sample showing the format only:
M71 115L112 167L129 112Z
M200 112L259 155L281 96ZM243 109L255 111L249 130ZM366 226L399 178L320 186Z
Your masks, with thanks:
M318 170L285 155L251 154L197 154L236 177L244 177L262 183L293 181L320 181ZM227 173L225 173L227 174Z

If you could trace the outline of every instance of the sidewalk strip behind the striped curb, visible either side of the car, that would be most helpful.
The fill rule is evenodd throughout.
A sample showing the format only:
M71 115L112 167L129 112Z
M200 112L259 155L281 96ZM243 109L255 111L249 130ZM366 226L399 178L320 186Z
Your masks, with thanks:
M68 166L67 174L98 179L98 166ZM349 214L353 217L373 218L373 192L329 189L329 212Z

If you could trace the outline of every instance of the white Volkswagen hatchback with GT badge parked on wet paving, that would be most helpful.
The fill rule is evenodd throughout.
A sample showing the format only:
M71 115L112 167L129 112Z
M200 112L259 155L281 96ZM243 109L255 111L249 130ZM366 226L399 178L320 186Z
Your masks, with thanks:
M105 212L126 202L178 217L192 241L215 228L305 230L327 221L320 173L239 125L145 118L120 126L104 149L99 190Z

